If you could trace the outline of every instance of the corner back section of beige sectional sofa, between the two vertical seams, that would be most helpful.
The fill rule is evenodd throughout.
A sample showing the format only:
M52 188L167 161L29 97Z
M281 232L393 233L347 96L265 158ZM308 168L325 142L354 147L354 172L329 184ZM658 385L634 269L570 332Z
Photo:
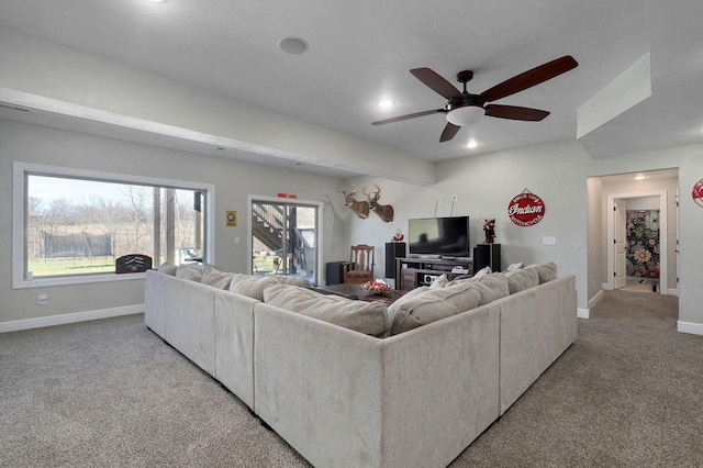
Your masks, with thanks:
M499 313L380 339L256 304L255 413L314 466L446 466L498 417Z

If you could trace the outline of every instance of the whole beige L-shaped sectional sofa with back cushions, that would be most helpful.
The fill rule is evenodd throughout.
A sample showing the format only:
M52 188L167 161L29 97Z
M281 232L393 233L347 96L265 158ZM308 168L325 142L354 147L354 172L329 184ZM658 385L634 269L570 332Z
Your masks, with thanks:
M437 285L390 311L230 275L214 287L148 271L146 325L316 467L448 465L577 336L574 277L549 268ZM248 297L242 281L268 285Z

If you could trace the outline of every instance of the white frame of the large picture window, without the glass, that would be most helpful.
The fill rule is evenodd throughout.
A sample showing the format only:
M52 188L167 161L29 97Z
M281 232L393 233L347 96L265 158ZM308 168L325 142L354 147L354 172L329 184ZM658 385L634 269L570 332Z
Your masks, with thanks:
M105 172L88 169L47 166L14 161L12 186L12 289L36 288L47 286L83 285L104 281L124 281L144 279L146 274L135 272L118 275L115 272L82 274L70 276L38 277L29 279L26 275L26 215L27 215L27 176L65 177L92 181L134 183L142 186L157 186L183 190L198 190L204 193L203 215L203 257L214 263L214 199L213 183L191 182L185 180L165 179L158 177L135 176L118 172Z

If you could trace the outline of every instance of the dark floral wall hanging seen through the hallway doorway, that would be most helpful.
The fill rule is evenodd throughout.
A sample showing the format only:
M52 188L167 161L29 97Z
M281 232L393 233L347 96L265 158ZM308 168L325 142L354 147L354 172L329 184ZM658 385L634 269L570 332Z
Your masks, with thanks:
M659 278L659 210L627 210L627 276Z

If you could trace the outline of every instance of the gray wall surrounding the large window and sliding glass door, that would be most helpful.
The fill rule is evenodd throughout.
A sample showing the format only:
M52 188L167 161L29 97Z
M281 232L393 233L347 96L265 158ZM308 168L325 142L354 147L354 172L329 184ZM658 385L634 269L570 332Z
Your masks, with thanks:
M0 120L0 258L5 259L0 264L0 323L144 302L143 280L12 289L13 161L214 183L214 263L225 270L244 272L250 261L248 194L284 192L323 201L324 255L348 255L346 244L337 242L345 236L348 216L336 190L338 179ZM237 211L236 227L225 225L227 210ZM46 305L37 305L40 293L48 296Z

